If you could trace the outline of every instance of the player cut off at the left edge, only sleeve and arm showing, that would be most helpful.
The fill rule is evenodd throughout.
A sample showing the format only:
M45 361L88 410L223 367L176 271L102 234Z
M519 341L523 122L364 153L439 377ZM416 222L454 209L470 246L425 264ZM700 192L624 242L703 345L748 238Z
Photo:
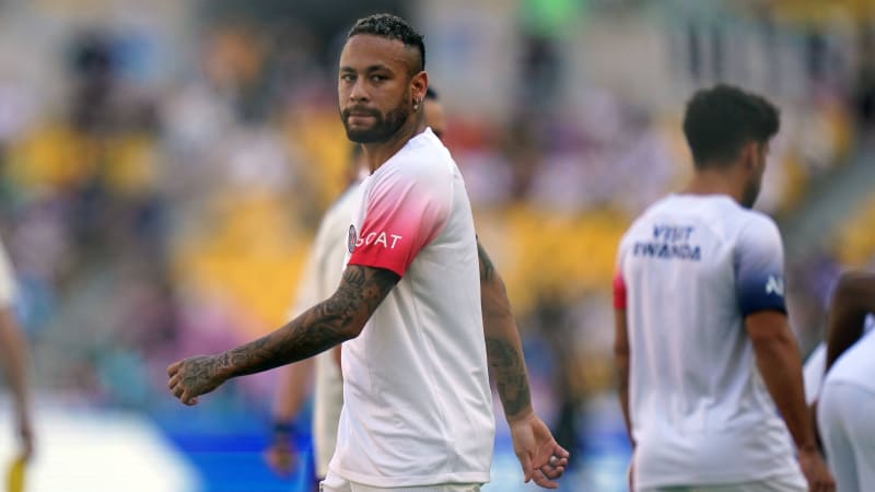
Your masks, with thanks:
M13 312L15 278L5 250L0 245L0 364L12 390L15 405L15 425L21 440L20 458L25 461L33 454L33 429L27 394L27 343Z

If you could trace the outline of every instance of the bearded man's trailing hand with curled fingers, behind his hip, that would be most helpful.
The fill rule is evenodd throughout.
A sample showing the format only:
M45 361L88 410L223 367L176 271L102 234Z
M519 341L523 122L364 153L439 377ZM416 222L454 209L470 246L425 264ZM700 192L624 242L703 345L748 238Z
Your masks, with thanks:
M534 412L510 422L513 450L523 467L523 480L545 489L556 489L555 481L565 471L569 453L556 443L547 425Z

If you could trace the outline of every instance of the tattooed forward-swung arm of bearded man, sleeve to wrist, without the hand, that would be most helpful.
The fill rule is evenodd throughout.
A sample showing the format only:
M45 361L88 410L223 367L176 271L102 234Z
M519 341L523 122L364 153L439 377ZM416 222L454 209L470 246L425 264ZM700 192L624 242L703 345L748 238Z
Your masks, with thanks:
M335 294L270 335L222 354L232 376L306 359L354 338L399 277L380 268L349 266Z

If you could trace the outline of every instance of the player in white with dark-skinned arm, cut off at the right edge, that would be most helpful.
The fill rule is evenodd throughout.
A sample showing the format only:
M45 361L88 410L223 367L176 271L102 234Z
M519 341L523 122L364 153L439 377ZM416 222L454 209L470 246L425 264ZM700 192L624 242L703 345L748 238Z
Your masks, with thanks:
M827 316L826 376L817 423L840 492L875 490L875 274L847 272ZM870 323L873 321L870 318Z

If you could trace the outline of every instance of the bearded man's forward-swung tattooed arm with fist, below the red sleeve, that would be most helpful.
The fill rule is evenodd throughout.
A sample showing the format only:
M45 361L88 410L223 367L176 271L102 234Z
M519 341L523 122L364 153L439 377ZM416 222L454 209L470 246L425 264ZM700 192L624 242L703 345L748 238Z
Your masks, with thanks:
M195 405L199 395L226 379L296 362L355 338L399 279L389 270L351 265L328 300L255 341L172 364L167 386L183 403Z

